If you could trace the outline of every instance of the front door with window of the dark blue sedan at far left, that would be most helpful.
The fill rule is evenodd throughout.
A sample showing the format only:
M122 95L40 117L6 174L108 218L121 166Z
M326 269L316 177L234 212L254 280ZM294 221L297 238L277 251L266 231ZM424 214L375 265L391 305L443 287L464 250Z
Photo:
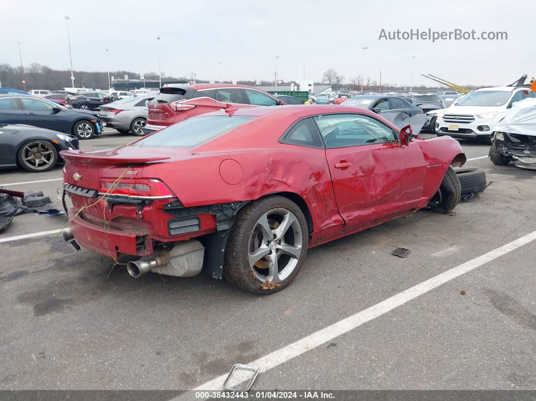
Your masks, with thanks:
M32 97L20 97L26 115L26 124L69 132L69 118L65 110L53 104Z

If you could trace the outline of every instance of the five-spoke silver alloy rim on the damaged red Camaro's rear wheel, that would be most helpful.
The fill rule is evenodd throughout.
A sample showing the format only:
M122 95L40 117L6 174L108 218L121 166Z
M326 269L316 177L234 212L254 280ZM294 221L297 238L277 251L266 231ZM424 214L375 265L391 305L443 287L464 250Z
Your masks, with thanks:
M292 211L277 208L263 214L248 243L248 262L260 282L279 283L295 270L302 254L302 229Z

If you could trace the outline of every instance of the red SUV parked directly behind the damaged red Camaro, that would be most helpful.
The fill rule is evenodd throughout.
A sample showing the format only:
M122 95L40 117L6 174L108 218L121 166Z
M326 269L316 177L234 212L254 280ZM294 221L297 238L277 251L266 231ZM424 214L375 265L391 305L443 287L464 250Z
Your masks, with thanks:
M148 104L144 132L149 134L193 116L225 109L227 104L242 108L283 103L262 90L244 85L166 86L160 88L160 93Z

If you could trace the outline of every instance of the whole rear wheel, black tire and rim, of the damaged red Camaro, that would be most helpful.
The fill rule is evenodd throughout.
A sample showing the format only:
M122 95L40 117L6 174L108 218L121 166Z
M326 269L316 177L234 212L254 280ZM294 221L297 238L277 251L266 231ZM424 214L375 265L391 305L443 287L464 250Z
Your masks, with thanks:
M277 230L279 224L288 221L292 222L285 225L287 229L281 235ZM266 196L244 206L237 214L225 248L224 277L234 286L255 294L280 291L299 273L308 245L307 222L296 203L284 196ZM277 270L273 268L274 262Z

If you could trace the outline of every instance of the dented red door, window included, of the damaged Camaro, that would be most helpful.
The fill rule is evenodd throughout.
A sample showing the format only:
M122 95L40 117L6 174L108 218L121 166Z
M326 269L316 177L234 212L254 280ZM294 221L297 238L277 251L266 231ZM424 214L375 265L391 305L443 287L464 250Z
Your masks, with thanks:
M425 161L418 143L401 146L390 126L362 114L313 118L326 146L341 217L360 229L422 201Z

